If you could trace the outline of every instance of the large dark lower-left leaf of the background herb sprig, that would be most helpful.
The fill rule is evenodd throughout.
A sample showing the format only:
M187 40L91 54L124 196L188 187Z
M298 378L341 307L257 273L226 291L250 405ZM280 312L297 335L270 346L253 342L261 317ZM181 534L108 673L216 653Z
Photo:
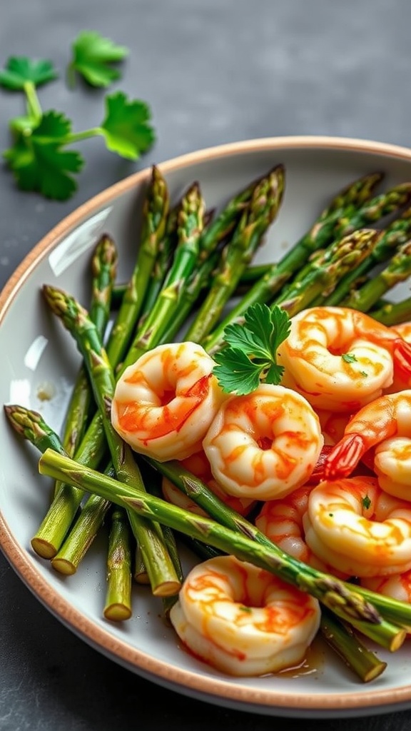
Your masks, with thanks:
M15 144L4 158L22 190L36 191L48 198L67 200L77 184L69 173L78 173L83 158L75 151L63 151L70 132L70 122L61 113L50 111L31 130L17 135Z

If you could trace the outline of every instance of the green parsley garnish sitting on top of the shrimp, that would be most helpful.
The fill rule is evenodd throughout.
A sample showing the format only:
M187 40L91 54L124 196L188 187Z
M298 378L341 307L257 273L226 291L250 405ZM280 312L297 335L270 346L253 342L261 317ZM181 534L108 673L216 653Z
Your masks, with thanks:
M290 318L281 307L254 304L244 313L244 323L224 330L226 346L214 355L213 373L225 393L244 395L260 382L278 385L284 371L276 352L290 333Z

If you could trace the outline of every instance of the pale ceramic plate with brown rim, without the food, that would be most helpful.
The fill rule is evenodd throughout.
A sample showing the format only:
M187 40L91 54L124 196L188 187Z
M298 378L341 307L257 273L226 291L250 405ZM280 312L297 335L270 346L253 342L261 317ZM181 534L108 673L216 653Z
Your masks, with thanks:
M172 197L200 181L207 205L221 205L271 166L283 163L286 190L279 217L259 261L274 261L297 240L332 194L374 170L382 189L411 180L411 151L363 140L283 137L225 145L162 164ZM135 258L138 211L150 170L137 173L81 206L31 251L0 296L1 404L37 409L59 431L79 356L71 337L50 317L39 294L56 284L88 301L87 262L102 232L116 240L118 279ZM44 388L49 401L39 399ZM61 577L30 548L48 505L48 484L37 473L38 453L20 442L5 417L0 423L0 544L38 599L73 632L103 654L170 689L227 707L288 716L365 715L411 706L410 645L388 657L388 670L362 685L334 656L317 651L305 673L230 678L193 659L163 624L162 605L135 587L132 618L102 617L104 552L97 540L75 576ZM380 653L384 655L384 653Z

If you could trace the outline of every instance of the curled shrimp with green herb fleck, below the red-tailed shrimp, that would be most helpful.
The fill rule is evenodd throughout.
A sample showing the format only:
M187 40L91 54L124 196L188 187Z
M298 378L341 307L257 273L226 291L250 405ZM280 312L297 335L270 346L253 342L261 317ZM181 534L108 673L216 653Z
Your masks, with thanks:
M347 575L411 569L411 504L382 491L376 477L320 482L303 527L315 555Z

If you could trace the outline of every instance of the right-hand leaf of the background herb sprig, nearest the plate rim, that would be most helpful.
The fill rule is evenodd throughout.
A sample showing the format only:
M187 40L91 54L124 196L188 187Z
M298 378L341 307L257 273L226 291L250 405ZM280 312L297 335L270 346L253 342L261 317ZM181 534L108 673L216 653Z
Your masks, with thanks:
M130 160L137 159L154 143L151 111L146 102L129 101L122 91L106 96L106 117L100 128L109 150Z

